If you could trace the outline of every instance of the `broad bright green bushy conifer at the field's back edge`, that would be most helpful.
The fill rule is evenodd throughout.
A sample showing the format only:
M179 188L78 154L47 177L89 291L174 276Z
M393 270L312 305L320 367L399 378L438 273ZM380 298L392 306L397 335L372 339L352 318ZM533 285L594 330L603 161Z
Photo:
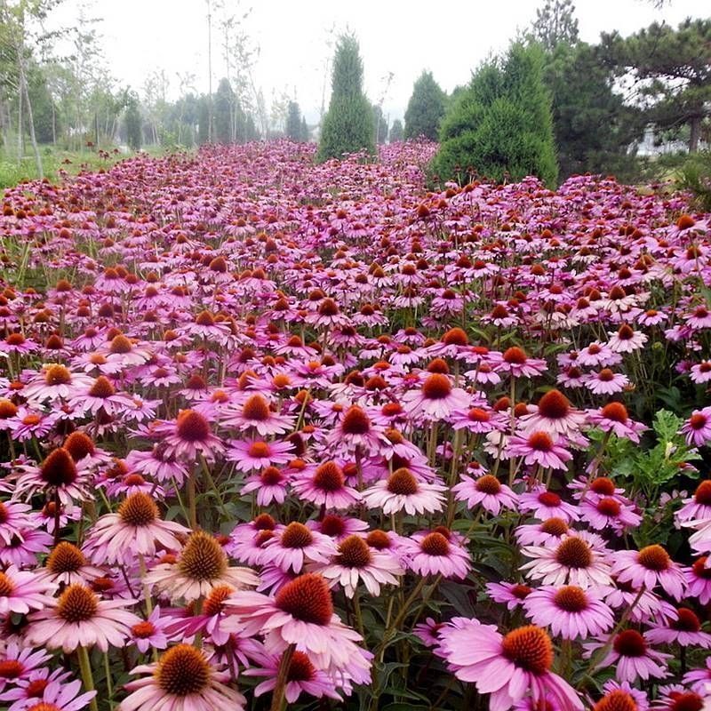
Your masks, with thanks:
M431 170L440 180L536 175L555 184L557 164L550 97L537 45L513 44L507 56L479 68L444 116Z

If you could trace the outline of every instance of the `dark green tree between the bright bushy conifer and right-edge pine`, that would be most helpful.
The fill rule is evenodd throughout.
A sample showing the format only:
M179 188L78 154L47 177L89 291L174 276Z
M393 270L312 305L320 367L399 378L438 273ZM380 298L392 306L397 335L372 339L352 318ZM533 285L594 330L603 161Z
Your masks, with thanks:
M553 130L561 175L595 172L626 176L634 164L627 148L643 131L638 109L612 91L614 75L596 47L559 43L545 59Z

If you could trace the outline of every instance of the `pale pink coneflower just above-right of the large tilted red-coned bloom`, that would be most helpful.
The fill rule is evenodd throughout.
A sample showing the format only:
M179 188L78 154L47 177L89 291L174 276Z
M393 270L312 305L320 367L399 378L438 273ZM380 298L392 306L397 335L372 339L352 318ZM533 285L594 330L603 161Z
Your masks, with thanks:
M328 563L312 567L332 586L340 585L347 597L356 595L361 582L373 597L377 597L381 585L398 585L395 576L404 574L394 555L370 547L367 539L356 534L340 541L338 552Z

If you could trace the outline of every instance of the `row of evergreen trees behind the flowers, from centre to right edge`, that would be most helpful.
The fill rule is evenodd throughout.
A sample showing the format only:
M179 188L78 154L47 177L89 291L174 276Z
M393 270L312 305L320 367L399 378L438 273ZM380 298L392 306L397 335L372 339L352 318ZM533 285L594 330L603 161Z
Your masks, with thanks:
M372 153L378 132L368 107L356 40L342 37L321 159ZM404 127L395 122L389 138L440 140L432 169L441 180L533 173L553 184L578 172L624 175L649 127L694 152L708 140L710 116L711 20L603 34L593 45L579 39L571 0L546 0L529 31L451 96L423 72Z

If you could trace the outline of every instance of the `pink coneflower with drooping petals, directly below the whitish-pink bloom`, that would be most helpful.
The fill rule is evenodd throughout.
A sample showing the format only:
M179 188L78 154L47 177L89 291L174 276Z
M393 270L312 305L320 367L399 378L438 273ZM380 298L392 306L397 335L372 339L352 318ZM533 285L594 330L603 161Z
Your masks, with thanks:
M405 567L419 575L441 575L443 578L464 579L471 570L466 547L443 526L434 531L419 531L403 538L398 555Z

